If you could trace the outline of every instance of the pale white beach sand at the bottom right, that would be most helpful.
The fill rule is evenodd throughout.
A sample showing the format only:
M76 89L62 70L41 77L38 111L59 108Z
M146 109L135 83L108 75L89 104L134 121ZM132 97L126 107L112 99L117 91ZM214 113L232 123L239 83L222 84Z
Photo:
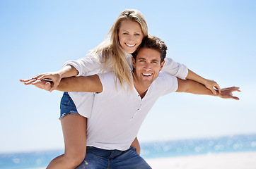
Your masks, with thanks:
M149 158L153 169L256 169L256 151Z

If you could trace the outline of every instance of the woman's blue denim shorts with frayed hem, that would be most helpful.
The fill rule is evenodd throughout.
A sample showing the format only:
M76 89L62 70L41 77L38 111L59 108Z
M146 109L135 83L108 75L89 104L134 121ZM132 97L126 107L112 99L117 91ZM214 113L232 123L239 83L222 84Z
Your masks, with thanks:
M65 115L76 113L78 113L78 111L76 110L76 105L74 104L74 101L71 99L68 92L64 92L62 100L60 101L59 120L64 118Z

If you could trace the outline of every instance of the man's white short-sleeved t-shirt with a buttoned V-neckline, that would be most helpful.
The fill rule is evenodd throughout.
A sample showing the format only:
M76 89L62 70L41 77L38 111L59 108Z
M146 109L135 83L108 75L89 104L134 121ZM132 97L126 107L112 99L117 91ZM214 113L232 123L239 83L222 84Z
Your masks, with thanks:
M158 97L178 89L176 77L159 73L143 99L135 88L115 84L112 72L99 75L103 92L95 94L91 118L87 119L87 146L129 149L144 118Z

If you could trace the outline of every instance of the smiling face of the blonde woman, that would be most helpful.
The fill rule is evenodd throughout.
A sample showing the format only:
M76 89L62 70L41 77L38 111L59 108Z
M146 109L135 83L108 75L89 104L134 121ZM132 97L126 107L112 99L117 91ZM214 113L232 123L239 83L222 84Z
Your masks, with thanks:
M131 20L122 20L118 37L124 51L132 54L141 44L144 35L139 23Z

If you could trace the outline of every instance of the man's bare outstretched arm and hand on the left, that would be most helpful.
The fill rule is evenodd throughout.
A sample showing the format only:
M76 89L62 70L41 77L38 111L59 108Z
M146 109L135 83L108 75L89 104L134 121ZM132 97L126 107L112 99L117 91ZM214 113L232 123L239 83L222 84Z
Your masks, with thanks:
M50 91L52 88L52 82L47 80L31 80L30 82L26 82L25 80L20 80L24 82L24 84L33 84L35 87L40 89L45 89ZM59 85L57 86L57 90L63 92L103 92L103 85L100 82L100 78L98 75L91 76L79 76L79 77L67 77L63 78Z

